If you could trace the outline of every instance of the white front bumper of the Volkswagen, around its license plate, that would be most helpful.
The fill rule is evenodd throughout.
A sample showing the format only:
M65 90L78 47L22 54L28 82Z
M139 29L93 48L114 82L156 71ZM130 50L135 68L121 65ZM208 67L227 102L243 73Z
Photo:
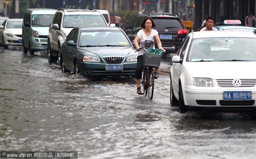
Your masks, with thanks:
M193 107L239 108L256 107L256 87L196 87L183 86L184 103ZM251 91L251 100L224 100L224 91Z

